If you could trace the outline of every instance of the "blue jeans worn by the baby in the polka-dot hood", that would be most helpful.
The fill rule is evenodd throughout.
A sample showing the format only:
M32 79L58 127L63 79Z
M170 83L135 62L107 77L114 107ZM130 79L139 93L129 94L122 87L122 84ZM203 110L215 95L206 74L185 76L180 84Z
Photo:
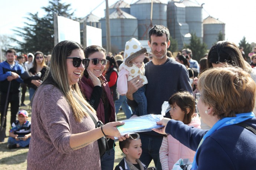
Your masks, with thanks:
M133 99L138 103L138 107L135 108L134 113L137 116L147 115L147 99L145 96L145 85L132 94Z

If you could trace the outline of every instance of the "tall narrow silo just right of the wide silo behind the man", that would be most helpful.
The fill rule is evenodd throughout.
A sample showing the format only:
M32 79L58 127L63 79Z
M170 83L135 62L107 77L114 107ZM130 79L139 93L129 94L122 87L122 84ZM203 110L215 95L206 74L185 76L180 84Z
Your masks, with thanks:
M178 50L190 43L191 34L186 23L186 8L180 1L172 0L167 5L167 24L170 36L177 40Z

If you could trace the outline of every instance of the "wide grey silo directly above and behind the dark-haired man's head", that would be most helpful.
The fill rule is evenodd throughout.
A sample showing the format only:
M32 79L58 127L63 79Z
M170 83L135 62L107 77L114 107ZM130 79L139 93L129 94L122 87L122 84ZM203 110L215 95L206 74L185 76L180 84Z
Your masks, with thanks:
M167 4L160 0L152 0L152 26L167 27ZM148 40L148 31L151 29L151 0L138 0L131 4L131 15L138 19L139 40Z

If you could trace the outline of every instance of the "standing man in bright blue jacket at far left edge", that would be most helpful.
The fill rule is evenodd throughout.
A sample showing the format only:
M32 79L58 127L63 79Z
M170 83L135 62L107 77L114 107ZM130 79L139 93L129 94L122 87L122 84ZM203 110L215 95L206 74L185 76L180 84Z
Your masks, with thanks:
M6 51L6 61L0 63L0 113L1 123L4 115L4 107L7 99L7 91L10 84L10 93L8 96L8 103L11 103L11 124L16 121L16 114L19 111L20 106L20 83L23 80L20 79L20 75L24 73L23 67L16 63L15 60L16 51L9 49ZM7 111L7 110L6 110ZM6 119L3 127L6 128Z

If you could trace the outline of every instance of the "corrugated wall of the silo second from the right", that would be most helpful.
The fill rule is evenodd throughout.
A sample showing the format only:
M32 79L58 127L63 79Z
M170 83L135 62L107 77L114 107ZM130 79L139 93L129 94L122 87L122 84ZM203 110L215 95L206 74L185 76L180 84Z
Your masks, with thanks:
M202 7L186 7L186 23L189 26L190 33L196 33L196 36L203 40L203 19Z

